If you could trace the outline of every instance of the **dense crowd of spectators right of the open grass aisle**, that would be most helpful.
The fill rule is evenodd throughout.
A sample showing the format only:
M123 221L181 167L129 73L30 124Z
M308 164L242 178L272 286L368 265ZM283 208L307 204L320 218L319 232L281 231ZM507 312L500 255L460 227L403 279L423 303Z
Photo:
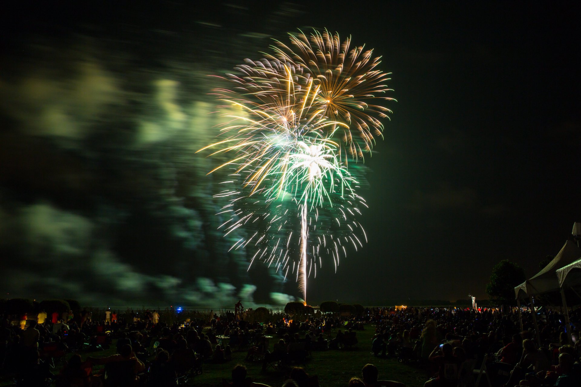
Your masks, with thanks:
M372 309L372 352L418 364L433 377L426 387L471 385L474 369L493 386L580 386L579 310L569 327L558 310ZM522 327L521 327L522 321ZM566 332L566 328L568 328Z

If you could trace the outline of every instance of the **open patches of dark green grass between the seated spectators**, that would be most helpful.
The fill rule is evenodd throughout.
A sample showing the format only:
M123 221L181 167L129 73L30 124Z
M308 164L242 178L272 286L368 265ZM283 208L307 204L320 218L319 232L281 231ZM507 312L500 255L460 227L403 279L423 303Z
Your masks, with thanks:
M322 387L346 386L352 377L361 377L361 368L367 363L375 364L379 368L379 378L403 382L409 387L421 387L428 379L426 372L417 367L400 364L397 359L385 359L375 357L371 354L371 338L374 334L372 325L365 325L364 331L357 331L358 345L351 350L328 350L325 352L313 352L313 357L307 362L306 371L309 375L318 375ZM274 341L278 338L270 339L270 349ZM83 360L88 356L102 357L115 353L113 345L103 351L82 352ZM69 355L70 356L70 355ZM69 357L67 356L67 357ZM230 372L236 364L244 364L248 368L248 376L255 382L268 384L272 387L279 387L284 382L285 376L282 371L275 371L269 368L266 372L261 371L262 364L259 362L244 361L246 352L232 353L232 361L225 364L204 364L203 374L189 379L187 385L199 387L221 386L223 378L230 380ZM94 371L98 370L97 367ZM55 373L55 372L53 372ZM0 380L0 386L9 386L9 380Z

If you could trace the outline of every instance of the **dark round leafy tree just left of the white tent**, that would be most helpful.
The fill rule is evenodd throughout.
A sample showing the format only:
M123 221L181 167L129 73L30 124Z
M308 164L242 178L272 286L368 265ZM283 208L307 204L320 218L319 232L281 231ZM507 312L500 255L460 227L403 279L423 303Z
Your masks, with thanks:
M517 263L503 259L493 267L490 283L486 285L490 301L497 305L516 305L514 288L525 280L525 269Z

